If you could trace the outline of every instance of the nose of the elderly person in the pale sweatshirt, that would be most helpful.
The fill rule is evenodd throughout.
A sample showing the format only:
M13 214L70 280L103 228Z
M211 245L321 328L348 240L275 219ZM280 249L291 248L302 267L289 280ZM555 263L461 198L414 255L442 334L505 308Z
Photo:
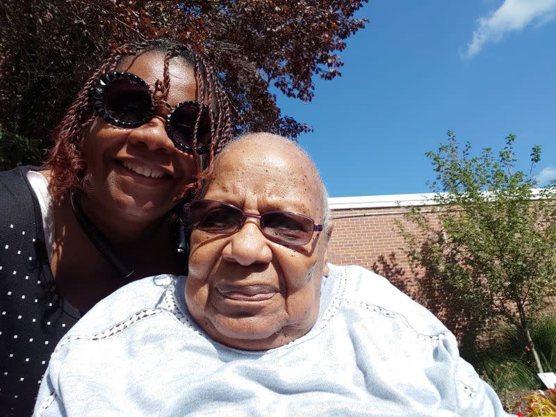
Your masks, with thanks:
M272 250L257 220L246 220L243 227L229 237L222 250L222 258L243 266L272 261Z

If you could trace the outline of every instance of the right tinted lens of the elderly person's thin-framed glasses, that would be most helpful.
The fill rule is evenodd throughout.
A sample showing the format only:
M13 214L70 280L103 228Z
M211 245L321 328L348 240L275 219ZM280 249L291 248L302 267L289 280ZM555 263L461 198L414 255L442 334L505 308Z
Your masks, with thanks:
M308 217L286 211L268 211L261 216L261 230L270 240L286 245L304 245L313 236Z

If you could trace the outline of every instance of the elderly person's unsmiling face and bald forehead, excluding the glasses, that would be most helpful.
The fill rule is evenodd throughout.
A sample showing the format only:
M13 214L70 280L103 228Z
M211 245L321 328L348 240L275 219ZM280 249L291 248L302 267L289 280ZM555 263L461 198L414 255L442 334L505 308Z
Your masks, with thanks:
M322 196L302 155L288 142L258 136L224 150L205 199L234 204L245 213L294 211L322 222ZM318 316L326 264L324 236L286 247L265 238L247 218L235 234L194 230L186 303L215 341L265 350L306 334Z

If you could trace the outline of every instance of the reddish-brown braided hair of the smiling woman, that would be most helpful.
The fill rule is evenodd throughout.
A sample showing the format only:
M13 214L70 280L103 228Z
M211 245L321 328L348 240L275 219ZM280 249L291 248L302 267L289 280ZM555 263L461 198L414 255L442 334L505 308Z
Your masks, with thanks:
M98 70L92 73L85 82L72 106L67 110L61 122L52 133L54 147L51 150L46 165L51 170L50 191L55 202L67 197L70 193L84 188L85 171L87 169L81 152L81 141L88 133L95 120L90 95L99 76L116 70L126 56L136 56L149 51L165 53L163 80L157 86L163 94L170 89L170 74L168 68L170 59L179 57L186 61L195 71L195 78L200 93L200 101L208 102L212 110L211 117L211 152L208 153L208 170L212 167L215 154L226 145L231 138L230 105L227 95L222 90L218 76L208 63L204 54L194 53L191 49L167 39L148 40L131 44L124 44L114 49L101 63ZM197 134L195 124L194 135ZM195 136L194 136L195 137ZM200 186L203 174L197 176ZM192 187L189 187L192 188ZM184 190L183 195L186 194Z

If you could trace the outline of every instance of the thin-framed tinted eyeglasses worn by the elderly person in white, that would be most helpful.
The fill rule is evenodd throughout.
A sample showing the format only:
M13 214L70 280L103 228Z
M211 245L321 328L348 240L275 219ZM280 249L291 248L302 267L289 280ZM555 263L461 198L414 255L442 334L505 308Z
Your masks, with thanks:
M280 245L305 245L314 231L322 231L322 224L291 211L267 211L261 215L244 213L240 208L213 200L197 200L186 205L189 224L195 229L214 234L233 234L246 218L259 219L262 234Z

